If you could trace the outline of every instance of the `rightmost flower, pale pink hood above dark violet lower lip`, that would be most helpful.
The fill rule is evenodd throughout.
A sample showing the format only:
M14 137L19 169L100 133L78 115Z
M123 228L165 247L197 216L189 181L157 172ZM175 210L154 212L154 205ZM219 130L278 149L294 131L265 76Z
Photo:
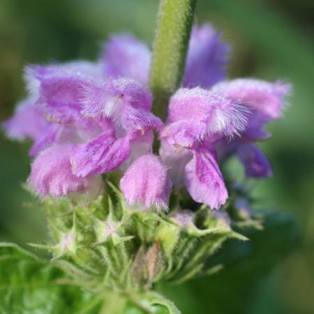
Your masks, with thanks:
M251 115L241 137L231 142L223 140L219 143L222 156L237 154L244 164L246 177L269 177L272 174L271 165L258 149L255 142L266 140L270 135L264 130L269 121L281 117L284 98L290 91L288 84L281 82L264 82L255 79L237 79L230 82L220 82L212 89L215 93L237 101L251 110Z

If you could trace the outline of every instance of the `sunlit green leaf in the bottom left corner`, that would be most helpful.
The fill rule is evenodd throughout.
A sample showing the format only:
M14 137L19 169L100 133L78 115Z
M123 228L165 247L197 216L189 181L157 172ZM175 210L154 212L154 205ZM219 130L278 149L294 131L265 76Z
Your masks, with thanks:
M93 314L96 301L57 267L15 244L0 243L1 314Z

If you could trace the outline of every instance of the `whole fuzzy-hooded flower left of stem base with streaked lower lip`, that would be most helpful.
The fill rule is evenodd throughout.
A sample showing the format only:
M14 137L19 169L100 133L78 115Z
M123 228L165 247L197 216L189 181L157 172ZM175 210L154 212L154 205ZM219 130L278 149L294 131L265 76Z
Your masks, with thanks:
M110 119L103 133L89 142L74 147L71 156L73 172L80 177L102 174L119 167L133 156L136 144L145 143L145 153L152 144L152 129L163 125L151 114L151 94L141 83L133 79L108 81L102 86L90 86L84 90L82 114L95 119ZM143 139L143 140L142 140ZM135 147L134 147L135 146Z

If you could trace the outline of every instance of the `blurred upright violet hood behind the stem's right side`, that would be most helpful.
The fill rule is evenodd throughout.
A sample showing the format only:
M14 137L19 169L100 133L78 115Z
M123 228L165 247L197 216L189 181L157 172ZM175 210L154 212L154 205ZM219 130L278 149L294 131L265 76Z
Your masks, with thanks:
M209 88L225 78L230 47L220 39L210 24L193 27L184 87Z

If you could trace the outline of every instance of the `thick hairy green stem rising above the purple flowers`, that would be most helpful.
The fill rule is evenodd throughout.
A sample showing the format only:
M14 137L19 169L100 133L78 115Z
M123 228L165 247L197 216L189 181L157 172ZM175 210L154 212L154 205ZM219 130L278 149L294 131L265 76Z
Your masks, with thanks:
M153 112L165 119L170 96L184 75L196 0L160 0L151 60Z

